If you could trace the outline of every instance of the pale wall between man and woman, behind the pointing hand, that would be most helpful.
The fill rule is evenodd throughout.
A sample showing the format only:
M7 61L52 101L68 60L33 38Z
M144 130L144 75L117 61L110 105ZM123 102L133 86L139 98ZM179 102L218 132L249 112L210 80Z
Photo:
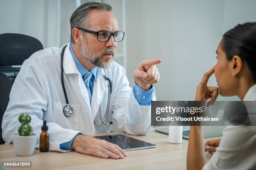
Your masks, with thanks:
M216 63L224 1L128 0L126 5L129 80L138 59L161 58L157 99L194 100L203 73Z

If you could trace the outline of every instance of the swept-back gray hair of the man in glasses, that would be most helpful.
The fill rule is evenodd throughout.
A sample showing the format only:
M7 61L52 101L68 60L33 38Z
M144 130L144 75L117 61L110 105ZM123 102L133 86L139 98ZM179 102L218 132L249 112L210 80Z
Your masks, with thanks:
M71 35L70 42L75 44L74 37L72 35L72 30L74 28L88 28L90 26L90 12L91 10L102 10L102 11L111 11L112 7L105 3L98 2L87 2L79 6L70 18L70 26L71 26ZM84 35L84 32L82 31Z

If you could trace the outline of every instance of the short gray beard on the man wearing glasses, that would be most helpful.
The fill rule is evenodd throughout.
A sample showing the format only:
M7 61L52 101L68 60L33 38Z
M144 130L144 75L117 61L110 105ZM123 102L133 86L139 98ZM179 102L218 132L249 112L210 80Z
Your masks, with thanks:
M91 64L95 65L96 67L100 67L103 69L109 68L113 63L113 58L116 54L114 47L108 47L106 50L102 50L99 52L98 55L96 55L93 52L89 52L89 49L86 48L87 43L86 40L82 42L81 45L81 54L84 58L86 58ZM86 50L87 49L87 50ZM113 57L111 57L107 62L102 61L102 57L104 54L112 54Z

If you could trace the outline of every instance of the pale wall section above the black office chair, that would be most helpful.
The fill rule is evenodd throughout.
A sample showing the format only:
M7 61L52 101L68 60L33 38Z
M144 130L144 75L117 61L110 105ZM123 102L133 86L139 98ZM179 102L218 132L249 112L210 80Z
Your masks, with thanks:
M0 34L21 33L38 38L45 46L47 1L1 0Z

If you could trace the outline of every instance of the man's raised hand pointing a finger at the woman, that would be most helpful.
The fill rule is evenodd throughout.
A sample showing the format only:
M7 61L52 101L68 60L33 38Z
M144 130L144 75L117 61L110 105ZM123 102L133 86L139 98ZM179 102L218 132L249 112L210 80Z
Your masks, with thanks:
M156 68L156 64L161 63L161 59L144 60L134 70L134 81L143 90L149 90L150 86L159 82L160 74Z

